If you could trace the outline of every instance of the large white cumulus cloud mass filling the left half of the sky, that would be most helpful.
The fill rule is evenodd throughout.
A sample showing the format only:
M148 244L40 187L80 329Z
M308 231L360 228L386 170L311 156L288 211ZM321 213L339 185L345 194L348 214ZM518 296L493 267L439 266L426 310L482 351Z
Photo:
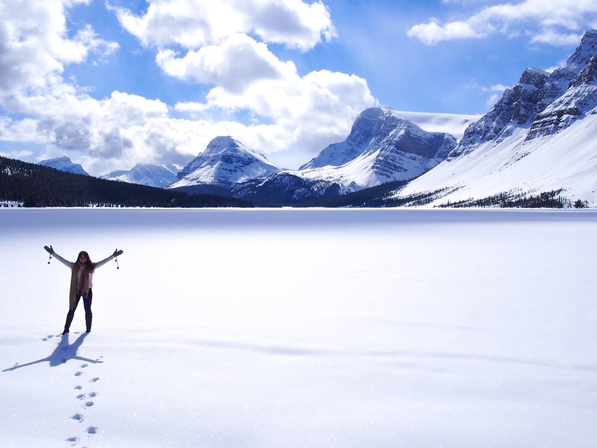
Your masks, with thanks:
M343 137L352 119L376 104L365 79L329 70L301 76L293 62L267 48L309 51L336 36L322 2L297 0L152 0L140 15L107 3L122 28L155 51L165 74L214 87L202 104L167 105L121 91L96 99L61 76L67 64L118 51L117 42L89 24L67 26L69 8L88 3L0 2L0 101L10 114L2 116L0 139L47 145L42 158L76 151L74 158L95 174L140 161L183 165L214 136L227 134L266 154L293 149L308 155ZM24 17L23 10L32 14ZM230 119L214 121L213 109ZM237 121L237 111L256 119Z

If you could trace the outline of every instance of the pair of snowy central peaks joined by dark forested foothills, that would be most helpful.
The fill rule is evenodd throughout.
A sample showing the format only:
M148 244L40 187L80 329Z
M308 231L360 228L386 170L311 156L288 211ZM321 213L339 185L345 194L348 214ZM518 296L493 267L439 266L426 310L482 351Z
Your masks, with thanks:
M457 140L446 132L425 131L400 114L388 107L366 109L344 142L328 146L298 170L284 170L232 137L216 137L168 188L286 205L412 179L444 160ZM478 118L431 113L410 116L459 134L472 118Z

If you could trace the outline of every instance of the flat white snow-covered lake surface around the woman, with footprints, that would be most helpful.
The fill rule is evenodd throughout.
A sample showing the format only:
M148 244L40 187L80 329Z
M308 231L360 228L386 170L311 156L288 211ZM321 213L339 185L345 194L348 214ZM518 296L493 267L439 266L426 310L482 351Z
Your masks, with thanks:
M70 271L99 261L61 337ZM0 446L594 447L595 210L0 210Z

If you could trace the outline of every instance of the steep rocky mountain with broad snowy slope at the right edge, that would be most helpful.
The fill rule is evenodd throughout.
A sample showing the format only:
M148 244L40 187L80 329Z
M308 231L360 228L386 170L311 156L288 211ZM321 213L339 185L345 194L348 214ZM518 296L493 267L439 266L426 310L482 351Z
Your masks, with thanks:
M446 188L432 204L501 192L563 188L597 201L597 31L587 31L553 73L527 69L494 108L471 124L448 159L399 192Z

